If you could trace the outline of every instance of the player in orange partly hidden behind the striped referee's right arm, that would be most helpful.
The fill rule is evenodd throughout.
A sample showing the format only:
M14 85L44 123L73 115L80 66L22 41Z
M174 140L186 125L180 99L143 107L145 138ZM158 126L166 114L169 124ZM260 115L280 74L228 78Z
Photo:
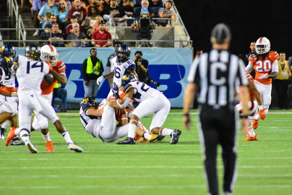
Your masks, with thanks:
M259 116L260 116L260 118L262 120L265 119L266 114L264 112L262 99L260 97L259 92L256 89L256 85L254 83L255 81L254 81L253 76L251 74L249 74L249 73L246 73L246 78L249 81L248 89L249 89L249 92L250 92L250 101L248 101L248 106L249 106L249 109L250 109L250 113L249 113L248 119L250 121L250 126L249 126L249 128L247 129L247 132L246 132L246 135L248 137L243 139L243 141L253 141L253 140L258 140L258 137L257 137L257 135L256 135L256 133L255 133L255 131L253 129L253 126L252 126L252 122L253 122L253 119L255 117L257 108L259 108L259 112L258 113L259 113ZM239 92L239 88L237 88L237 92ZM239 103L235 107L236 107L236 109L239 112L240 117L241 117L242 116L242 109L243 109L242 104Z

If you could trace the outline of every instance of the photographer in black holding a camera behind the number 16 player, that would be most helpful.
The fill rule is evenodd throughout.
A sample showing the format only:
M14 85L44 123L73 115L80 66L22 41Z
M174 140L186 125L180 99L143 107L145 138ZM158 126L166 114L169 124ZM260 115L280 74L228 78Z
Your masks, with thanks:
M143 59L142 51L135 52L134 62L136 64L136 73L138 75L139 81L144 82L148 75L147 68L149 62L147 59Z

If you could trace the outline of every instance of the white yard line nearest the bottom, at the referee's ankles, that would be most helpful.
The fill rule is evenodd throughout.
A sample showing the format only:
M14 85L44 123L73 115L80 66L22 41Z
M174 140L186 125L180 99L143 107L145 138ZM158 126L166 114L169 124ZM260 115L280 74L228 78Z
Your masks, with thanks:
M283 189L283 188L291 188L292 185L236 185L236 188L256 188L256 189ZM42 189L185 189L185 188L206 188L206 185L94 185L94 186L0 186L0 189L5 190L42 190Z

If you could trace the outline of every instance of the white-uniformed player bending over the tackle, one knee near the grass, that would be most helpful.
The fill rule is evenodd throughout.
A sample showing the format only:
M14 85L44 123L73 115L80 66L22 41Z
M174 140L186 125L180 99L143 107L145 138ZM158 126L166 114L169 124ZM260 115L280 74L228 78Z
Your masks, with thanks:
M126 108L131 99L139 102L139 105L132 112L128 125L128 137L125 140L118 141L117 144L135 144L134 136L139 123L138 121L150 114L154 114L150 125L150 131L160 136L171 136L170 144L178 143L182 131L162 127L170 110L170 102L164 94L146 85L144 82L137 81L132 74L125 75L122 78L122 86L125 86L126 93L123 99L119 97L119 88L114 82L111 87L118 105L122 109Z

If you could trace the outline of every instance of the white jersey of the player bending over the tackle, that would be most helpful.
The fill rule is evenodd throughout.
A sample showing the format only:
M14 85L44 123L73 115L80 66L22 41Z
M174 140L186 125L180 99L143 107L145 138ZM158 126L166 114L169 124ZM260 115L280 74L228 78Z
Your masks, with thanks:
M132 81L132 82L129 82L125 86L126 94L132 90L134 90L134 95L132 99L134 99L137 102L145 101L147 98L150 98L154 94L162 93L158 91L157 89L154 89L146 85L144 82L140 82L140 81Z

